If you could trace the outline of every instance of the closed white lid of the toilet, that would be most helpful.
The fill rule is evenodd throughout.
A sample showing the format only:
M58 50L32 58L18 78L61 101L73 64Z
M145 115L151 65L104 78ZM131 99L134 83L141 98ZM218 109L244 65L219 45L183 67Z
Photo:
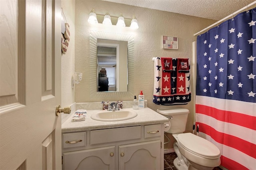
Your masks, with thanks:
M194 152L206 157L220 156L220 150L217 146L215 146L212 142L192 133L178 134L178 141L182 147L190 152Z

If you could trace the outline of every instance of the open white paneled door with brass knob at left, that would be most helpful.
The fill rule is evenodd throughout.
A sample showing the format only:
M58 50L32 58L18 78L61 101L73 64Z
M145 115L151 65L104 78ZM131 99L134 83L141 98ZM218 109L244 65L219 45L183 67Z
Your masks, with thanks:
M61 2L0 0L0 169L61 169Z

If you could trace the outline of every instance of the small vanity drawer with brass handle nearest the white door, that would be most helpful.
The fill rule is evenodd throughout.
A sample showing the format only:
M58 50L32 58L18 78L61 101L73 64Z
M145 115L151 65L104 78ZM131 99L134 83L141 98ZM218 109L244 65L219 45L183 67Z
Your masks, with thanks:
M62 146L63 148L86 146L86 132L62 134Z

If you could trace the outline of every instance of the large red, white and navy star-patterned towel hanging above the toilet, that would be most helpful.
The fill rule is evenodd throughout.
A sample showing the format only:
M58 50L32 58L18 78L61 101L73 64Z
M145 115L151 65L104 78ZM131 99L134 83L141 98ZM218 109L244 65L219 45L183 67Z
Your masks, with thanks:
M182 105L191 101L190 72L177 71L178 59L172 58L172 71L164 71L165 58L156 57L154 60L154 93L153 102L156 105ZM189 59L188 61L188 68Z

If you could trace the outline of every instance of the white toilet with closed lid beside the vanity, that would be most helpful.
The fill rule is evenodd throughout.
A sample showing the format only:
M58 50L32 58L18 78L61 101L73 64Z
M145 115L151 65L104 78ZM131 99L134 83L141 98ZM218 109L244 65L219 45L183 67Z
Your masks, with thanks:
M183 133L189 114L188 109L181 107L157 109L156 112L167 117L165 132L176 139L174 151L177 158L174 166L178 170L212 170L220 166L220 150L212 142L192 133ZM169 126L168 126L169 125Z

